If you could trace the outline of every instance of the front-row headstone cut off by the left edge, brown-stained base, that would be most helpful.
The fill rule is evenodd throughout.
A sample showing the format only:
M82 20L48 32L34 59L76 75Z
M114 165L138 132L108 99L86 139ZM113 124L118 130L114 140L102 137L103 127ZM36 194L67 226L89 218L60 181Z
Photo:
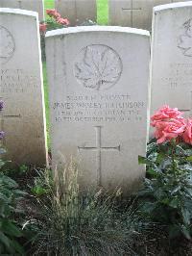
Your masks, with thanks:
M47 162L37 13L0 9L0 130L13 163Z

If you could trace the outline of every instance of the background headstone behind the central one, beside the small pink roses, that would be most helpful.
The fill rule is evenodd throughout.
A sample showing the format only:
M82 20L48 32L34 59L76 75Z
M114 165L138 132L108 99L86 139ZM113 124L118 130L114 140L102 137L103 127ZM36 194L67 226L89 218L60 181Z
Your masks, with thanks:
M55 7L62 17L69 19L71 26L86 20L96 21L96 0L55 0Z

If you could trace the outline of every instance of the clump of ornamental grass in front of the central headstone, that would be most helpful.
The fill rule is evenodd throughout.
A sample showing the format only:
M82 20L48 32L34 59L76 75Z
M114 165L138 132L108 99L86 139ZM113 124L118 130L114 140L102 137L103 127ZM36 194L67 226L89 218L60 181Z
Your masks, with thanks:
M62 177L55 170L54 182L45 175L49 193L38 199L34 255L134 255L132 244L143 229L133 207L120 212L120 190L107 195L80 192L77 165L71 161ZM28 222L29 227L30 222ZM35 228L36 226L36 228Z

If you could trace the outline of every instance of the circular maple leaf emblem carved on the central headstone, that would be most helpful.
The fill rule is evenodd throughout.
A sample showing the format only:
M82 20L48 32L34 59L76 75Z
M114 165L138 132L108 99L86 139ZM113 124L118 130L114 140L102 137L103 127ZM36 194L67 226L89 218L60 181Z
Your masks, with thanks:
M74 64L79 84L90 90L108 90L121 77L122 62L119 55L103 44L86 46Z

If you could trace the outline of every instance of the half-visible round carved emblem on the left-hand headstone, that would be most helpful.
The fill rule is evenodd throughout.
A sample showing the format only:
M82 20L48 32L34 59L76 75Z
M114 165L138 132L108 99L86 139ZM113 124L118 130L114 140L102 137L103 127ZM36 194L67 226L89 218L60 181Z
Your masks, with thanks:
M6 64L14 54L15 43L11 32L0 26L0 64Z

